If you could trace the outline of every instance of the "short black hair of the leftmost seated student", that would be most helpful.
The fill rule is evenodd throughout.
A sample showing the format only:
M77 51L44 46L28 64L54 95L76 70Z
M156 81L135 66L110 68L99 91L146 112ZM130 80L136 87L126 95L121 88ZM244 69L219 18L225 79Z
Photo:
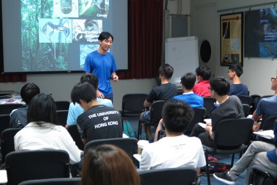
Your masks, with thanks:
M41 90L34 83L25 84L20 91L20 96L22 100L28 105L32 98L41 93Z

